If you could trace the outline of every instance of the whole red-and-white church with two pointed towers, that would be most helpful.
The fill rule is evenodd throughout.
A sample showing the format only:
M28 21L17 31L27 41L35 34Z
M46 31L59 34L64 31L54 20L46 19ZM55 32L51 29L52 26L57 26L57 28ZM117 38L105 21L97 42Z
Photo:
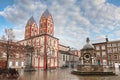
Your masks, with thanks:
M18 43L34 47L33 67L58 67L59 39L54 37L54 21L48 9L40 17L39 26L33 16L27 21L24 38Z

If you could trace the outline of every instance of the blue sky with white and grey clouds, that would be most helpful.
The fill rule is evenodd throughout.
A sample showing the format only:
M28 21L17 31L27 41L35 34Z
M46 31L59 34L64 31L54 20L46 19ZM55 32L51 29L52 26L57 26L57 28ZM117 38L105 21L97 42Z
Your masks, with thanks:
M120 0L0 0L0 36L13 28L15 39L24 39L27 20L34 16L38 24L46 8L62 45L80 49L86 37L120 40Z

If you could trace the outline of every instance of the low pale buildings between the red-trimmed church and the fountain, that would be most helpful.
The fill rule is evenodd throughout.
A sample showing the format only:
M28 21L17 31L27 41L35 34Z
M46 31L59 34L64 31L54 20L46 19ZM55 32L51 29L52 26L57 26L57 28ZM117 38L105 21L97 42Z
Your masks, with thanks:
M59 67L76 67L79 64L80 51L59 45Z

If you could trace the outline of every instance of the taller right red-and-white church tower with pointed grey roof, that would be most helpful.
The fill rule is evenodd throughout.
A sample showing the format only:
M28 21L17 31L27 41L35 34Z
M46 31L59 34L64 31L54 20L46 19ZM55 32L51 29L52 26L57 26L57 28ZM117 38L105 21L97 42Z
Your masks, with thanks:
M40 27L39 27L39 34L48 34L53 36L54 35L54 23L51 14L49 13L48 9L42 14L40 19Z

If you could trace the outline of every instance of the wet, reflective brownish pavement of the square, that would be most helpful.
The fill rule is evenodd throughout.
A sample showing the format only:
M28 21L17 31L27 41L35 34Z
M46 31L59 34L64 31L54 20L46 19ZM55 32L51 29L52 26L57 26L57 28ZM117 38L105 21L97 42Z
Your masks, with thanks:
M72 69L56 69L47 71L36 69L35 72L24 72L23 70L20 70L20 77L17 80L120 80L119 69L112 70L116 72L118 76L78 76L71 74L71 71Z

